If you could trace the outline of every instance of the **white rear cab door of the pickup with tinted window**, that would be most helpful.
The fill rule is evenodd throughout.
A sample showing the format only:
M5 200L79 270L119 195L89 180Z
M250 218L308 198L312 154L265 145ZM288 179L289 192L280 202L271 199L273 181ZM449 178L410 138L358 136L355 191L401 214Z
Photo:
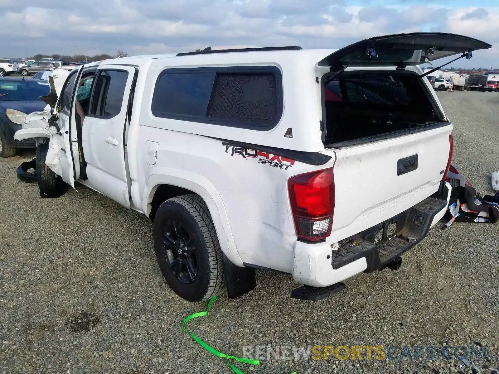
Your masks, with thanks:
M130 207L127 130L138 70L126 65L99 65L83 121L83 184Z

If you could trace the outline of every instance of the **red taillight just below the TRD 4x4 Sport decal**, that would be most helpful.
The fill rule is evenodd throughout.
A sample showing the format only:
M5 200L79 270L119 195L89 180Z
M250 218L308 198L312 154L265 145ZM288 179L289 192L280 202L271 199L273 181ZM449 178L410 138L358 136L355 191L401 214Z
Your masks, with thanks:
M328 237L334 213L333 169L291 177L287 187L298 237L311 241Z

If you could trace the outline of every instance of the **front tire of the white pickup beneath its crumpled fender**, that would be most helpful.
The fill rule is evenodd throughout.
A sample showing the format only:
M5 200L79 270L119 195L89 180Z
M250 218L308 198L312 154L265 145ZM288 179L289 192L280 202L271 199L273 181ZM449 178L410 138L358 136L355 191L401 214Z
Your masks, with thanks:
M67 185L60 176L45 165L48 142L36 147L36 178L40 197L59 197L67 191Z

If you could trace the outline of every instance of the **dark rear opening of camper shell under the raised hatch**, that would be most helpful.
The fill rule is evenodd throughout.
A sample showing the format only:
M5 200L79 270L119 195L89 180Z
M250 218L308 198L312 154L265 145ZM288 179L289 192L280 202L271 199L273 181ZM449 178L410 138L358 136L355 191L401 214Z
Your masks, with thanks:
M328 75L322 78L326 147L442 126L444 115L416 72L346 71L333 80Z

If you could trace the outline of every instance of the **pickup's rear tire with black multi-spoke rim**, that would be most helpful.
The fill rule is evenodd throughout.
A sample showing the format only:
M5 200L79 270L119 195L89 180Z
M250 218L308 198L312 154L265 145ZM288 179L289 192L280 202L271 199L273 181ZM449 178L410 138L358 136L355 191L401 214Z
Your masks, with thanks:
M159 206L154 218L154 247L168 285L183 299L205 301L224 289L222 250L200 196L173 197Z

